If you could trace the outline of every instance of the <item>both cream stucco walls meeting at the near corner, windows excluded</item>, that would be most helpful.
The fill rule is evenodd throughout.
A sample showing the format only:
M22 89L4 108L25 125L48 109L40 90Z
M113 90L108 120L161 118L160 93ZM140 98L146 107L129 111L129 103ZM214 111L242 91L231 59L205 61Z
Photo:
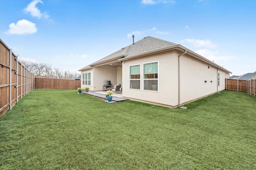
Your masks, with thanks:
M178 55L179 51L166 51L124 61L122 72L123 97L178 106ZM158 61L159 91L143 90L143 63ZM140 89L130 89L130 65L140 64ZM218 86L218 72L220 85ZM180 104L225 89L226 73L188 55L180 57Z

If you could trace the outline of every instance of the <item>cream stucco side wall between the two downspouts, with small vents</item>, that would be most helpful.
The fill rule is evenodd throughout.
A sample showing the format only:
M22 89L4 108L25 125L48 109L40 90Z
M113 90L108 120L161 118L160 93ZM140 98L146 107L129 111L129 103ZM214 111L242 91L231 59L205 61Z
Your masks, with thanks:
M180 103L216 93L217 75L216 67L188 55L182 55L180 57Z

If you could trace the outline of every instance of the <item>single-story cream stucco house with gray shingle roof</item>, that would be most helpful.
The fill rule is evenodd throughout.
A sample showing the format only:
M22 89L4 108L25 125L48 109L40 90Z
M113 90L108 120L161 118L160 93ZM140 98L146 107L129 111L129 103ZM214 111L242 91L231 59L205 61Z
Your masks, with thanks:
M186 47L145 37L82 69L81 87L122 85L122 97L178 107L225 89L227 69Z

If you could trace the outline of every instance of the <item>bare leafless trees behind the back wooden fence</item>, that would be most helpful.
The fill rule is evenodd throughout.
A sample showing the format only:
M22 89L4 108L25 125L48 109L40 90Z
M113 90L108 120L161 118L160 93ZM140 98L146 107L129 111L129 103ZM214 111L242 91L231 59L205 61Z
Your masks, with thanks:
M48 78L74 80L81 75L77 71L62 70L56 67L53 68L52 65L46 63L34 63L32 61L21 59L19 59L19 62L31 73Z

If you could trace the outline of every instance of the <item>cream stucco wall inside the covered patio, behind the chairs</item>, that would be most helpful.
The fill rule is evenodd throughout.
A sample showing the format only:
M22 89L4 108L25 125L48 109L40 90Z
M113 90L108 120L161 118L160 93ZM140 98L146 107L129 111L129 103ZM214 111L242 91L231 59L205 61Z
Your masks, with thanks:
M116 84L116 67L111 66L99 66L93 68L93 91L102 91L102 85L105 80L110 80L110 83L114 86Z

